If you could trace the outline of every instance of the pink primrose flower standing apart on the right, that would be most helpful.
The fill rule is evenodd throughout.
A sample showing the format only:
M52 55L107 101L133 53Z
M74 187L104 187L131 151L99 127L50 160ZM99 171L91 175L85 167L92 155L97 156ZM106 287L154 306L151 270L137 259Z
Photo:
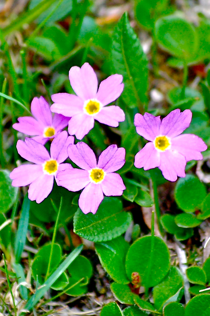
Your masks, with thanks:
M149 143L135 155L134 166L144 167L144 170L158 167L169 181L176 181L177 176L184 178L187 161L201 160L201 151L207 149L200 137L180 135L191 119L190 110L173 110L162 121L160 116L137 113L134 117L136 131Z

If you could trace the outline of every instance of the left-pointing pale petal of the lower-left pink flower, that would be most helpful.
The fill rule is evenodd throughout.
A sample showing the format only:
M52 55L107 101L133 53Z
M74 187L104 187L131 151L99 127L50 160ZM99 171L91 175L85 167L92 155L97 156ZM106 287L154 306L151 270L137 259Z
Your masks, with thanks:
M42 176L43 167L40 165L21 165L9 175L13 186L25 186Z

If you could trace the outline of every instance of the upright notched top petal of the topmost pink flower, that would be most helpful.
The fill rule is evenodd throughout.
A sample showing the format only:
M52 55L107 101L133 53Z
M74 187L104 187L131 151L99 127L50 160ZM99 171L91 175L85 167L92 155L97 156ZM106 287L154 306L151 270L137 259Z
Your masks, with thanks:
M77 66L71 67L69 70L69 80L74 92L83 100L94 99L98 80L93 68L85 63L81 69Z

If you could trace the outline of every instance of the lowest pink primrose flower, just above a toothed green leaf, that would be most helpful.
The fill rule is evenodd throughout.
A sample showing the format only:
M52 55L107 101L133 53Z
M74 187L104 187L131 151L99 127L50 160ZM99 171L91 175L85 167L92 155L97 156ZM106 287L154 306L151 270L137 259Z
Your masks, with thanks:
M98 163L94 152L85 143L69 145L69 158L81 169L68 169L57 175L59 185L69 191L79 191L84 188L79 197L79 207L87 214L96 213L99 204L106 196L122 195L126 189L122 178L114 171L125 163L125 149L111 145L99 156ZM104 194L103 194L104 193Z

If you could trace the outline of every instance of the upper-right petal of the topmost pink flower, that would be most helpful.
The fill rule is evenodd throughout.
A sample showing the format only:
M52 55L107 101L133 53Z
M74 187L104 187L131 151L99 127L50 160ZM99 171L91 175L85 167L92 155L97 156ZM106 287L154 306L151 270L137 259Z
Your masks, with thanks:
M99 85L99 90L96 94L96 99L99 100L103 106L115 101L122 93L124 84L122 82L122 75L111 75L103 80Z

